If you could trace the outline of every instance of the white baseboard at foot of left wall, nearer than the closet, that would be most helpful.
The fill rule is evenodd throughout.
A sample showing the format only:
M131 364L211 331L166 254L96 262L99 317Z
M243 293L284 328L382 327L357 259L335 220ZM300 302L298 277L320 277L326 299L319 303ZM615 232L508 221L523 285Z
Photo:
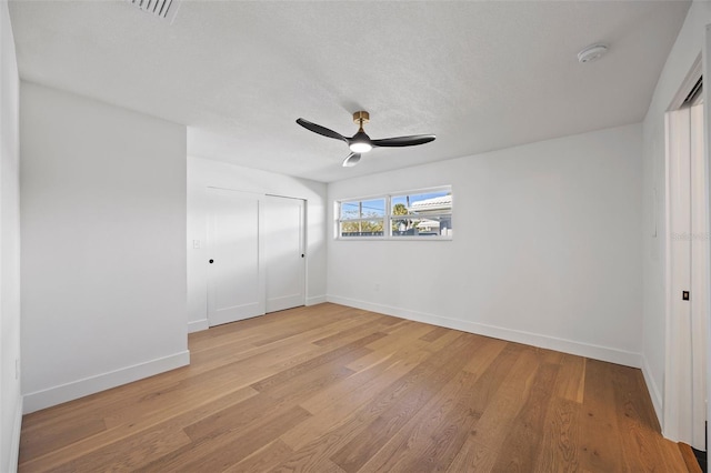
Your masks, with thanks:
M128 384L133 381L142 380L143 378L164 373L166 371L174 370L188 364L190 364L190 351L186 350L172 355L147 361L144 363L84 378L82 380L49 388L47 390L36 391L24 395L23 412L29 414L30 412L51 407L52 405L83 397L100 391L106 391L122 384Z

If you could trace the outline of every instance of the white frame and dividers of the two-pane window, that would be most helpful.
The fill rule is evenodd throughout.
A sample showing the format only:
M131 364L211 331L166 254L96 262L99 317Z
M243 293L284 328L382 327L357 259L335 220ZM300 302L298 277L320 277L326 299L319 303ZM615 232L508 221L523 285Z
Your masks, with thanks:
M333 208L333 214L336 215L334 219L334 239L336 240L342 240L342 241L351 241L351 240L356 240L356 241L382 241L382 240L387 240L387 241L451 241L452 240L452 233L450 232L449 234L445 235L427 235L427 236L421 236L421 235L393 235L392 234L392 221L393 220L400 220L403 217L407 215L393 215L392 214L392 199L395 197L401 197L401 195L413 195L413 194L424 194L424 193L431 193L431 192L442 192L442 191L447 191L452 193L453 197L453 192L452 192L452 185L439 185L435 188L423 188L423 189L413 189L413 190L405 190L405 191L397 191L397 192L389 192L387 194L378 194L378 195L369 195L369 197L357 197L357 198L349 198L349 199L338 199L333 202L334 208ZM341 235L341 224L344 222L372 222L373 220L380 220L380 219L343 219L341 215L341 204L343 203L348 203L348 202L363 202L363 201L370 201L370 200L378 200L378 199L384 199L385 202L385 209L384 209L384 215L383 215L383 234L382 235L373 235L373 236L342 236ZM414 217L414 215L413 215ZM420 217L420 219L424 220L427 219L428 215L422 215ZM440 218L440 217L449 217L451 220L454 219L454 199L452 198L452 209L451 211L448 212L442 212L442 213L431 213L429 214L429 217L433 217L433 218ZM415 220L415 219L412 219ZM451 229L450 229L451 230Z

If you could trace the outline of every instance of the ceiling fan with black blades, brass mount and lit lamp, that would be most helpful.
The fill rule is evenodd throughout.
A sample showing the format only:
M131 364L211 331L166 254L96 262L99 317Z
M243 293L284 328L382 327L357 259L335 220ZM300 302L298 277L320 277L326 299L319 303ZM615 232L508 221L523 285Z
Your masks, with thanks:
M350 148L351 153L346 157L343 160L343 168L351 168L358 164L360 161L360 157L362 153L367 153L373 148L394 148L394 147L413 147L415 144L424 144L430 141L434 141L434 134L414 134L411 137L397 137L397 138L384 138L382 140L371 140L365 131L363 130L363 124L370 121L370 115L368 112L356 112L353 113L353 123L358 125L358 132L353 134L351 138L343 137L340 133L337 133L333 130L329 130L326 127L321 127L320 124L311 123L304 119L298 119L297 123L307 130L313 131L314 133L319 133L323 137L332 138L334 140L346 141L348 143L348 148Z

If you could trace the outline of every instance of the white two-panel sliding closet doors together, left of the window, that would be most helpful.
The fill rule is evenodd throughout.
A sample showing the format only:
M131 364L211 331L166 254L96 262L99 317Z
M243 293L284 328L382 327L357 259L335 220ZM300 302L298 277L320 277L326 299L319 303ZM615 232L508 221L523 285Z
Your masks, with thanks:
M306 303L306 202L207 189L210 326Z

